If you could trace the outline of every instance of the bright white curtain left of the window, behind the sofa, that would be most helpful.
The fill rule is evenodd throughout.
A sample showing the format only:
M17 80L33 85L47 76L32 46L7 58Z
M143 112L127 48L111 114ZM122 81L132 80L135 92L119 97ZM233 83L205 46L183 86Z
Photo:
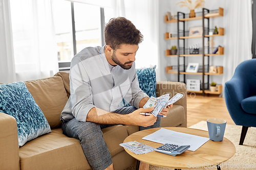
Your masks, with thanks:
M16 81L53 76L58 61L51 0L11 0L10 7Z

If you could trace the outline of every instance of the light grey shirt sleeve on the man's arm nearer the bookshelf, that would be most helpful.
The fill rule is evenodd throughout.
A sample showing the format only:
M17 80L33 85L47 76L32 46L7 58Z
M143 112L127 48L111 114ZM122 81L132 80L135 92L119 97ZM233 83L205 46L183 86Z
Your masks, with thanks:
M124 96L124 99L133 107L136 107L137 109L139 109L139 103L140 101L145 98L148 97L148 95L146 93L144 93L140 87L139 87L139 80L138 80L138 76L136 74L134 74L133 80L131 82L131 88L130 90L127 92L127 94Z

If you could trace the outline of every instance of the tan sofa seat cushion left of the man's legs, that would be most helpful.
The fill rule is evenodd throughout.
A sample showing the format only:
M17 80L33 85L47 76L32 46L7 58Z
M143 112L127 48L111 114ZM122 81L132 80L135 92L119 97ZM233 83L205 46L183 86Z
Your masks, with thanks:
M20 169L90 169L79 140L53 129L19 149Z

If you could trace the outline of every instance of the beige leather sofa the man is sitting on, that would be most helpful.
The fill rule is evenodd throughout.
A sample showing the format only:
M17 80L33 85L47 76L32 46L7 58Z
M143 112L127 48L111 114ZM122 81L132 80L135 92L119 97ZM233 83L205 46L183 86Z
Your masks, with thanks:
M62 134L60 112L68 101L69 74L58 72L54 77L25 82L36 103L44 112L52 133L28 141L18 147L16 120L0 113L0 169L91 169L79 140ZM170 93L185 94L176 102L161 127L186 127L186 87L180 82L157 82L157 96ZM139 131L138 126L116 125L102 129L108 144L114 168L125 169L135 163L120 143L130 134Z

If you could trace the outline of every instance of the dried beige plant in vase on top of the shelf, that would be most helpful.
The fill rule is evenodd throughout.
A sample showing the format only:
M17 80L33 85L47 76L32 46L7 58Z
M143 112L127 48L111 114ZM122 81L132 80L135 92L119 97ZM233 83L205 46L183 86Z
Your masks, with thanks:
M189 18L191 18L191 17L196 17L195 9L203 8L204 3L205 3L204 0L196 0L194 4L192 4L191 0L184 0L184 2L181 1L176 5L181 4L180 8L187 7L190 10Z

